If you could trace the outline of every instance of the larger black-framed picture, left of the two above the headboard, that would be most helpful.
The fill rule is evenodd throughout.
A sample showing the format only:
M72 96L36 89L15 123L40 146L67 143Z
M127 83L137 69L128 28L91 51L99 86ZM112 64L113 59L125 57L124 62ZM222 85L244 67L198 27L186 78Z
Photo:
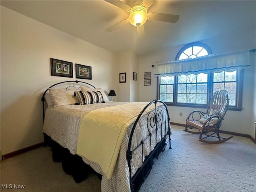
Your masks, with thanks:
M51 75L73 77L73 63L51 58Z

